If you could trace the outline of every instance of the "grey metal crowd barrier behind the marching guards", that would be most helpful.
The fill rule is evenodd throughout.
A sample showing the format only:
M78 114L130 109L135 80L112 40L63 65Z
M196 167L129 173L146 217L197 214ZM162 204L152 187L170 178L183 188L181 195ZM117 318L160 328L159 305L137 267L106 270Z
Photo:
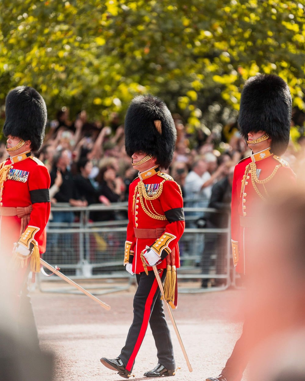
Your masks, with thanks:
M111 221L91 221L91 213L111 213ZM186 229L179 241L181 267L177 269L179 292L205 292L225 289L234 284L231 272L230 215L226 213L224 228L194 226L198 216L219 213L211 208L185 208ZM61 216L60 221L48 222L47 250L43 259L70 278L90 281L88 288L95 294L128 290L135 277L123 267L126 240L127 203L110 207L97 204L88 207L71 207L68 204L52 205L51 213ZM74 222L71 221L74 213ZM56 218L58 220L58 218ZM47 271L46 271L47 272ZM234 274L234 272L233 272ZM45 282L56 282L56 275L39 274L38 284L43 292L74 292L71 288L45 287ZM201 287L205 282L206 287ZM77 291L76 291L77 292Z

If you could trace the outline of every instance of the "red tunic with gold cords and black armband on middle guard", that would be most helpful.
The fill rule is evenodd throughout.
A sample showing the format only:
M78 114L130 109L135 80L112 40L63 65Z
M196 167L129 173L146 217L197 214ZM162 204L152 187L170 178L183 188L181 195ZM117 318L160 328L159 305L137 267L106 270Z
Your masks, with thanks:
M124 264L132 263L132 271L136 274L143 272L140 254L147 245L153 247L163 259L157 265L158 269L166 268L165 257L173 249L175 266L180 267L178 241L185 229L185 221L183 199L177 182L157 167L140 173L129 186L128 220ZM153 229L157 236L136 238L135 228ZM147 269L152 271L152 267Z

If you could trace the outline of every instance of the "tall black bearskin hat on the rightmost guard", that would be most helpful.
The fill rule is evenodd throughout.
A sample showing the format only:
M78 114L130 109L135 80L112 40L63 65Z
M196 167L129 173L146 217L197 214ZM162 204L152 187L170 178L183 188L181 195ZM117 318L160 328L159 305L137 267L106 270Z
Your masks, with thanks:
M287 83L277 75L258 74L249 78L241 93L238 124L241 135L266 131L273 154L285 152L289 142L291 94Z

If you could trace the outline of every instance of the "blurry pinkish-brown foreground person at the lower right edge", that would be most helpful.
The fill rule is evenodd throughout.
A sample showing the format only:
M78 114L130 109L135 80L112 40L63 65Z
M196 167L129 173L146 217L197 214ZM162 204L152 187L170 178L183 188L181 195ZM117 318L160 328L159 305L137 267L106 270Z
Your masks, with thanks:
M254 231L261 239L250 256L247 282L252 335L246 350L255 348L249 381L300 381L305 379L305 189L277 195L264 213Z

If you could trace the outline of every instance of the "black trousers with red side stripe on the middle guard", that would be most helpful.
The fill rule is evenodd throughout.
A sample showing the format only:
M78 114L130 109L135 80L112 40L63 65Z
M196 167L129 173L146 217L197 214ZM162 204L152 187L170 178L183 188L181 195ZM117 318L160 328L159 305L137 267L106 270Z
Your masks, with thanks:
M163 281L166 270L159 270L159 273ZM136 274L136 281L138 288L133 299L133 322L119 357L124 367L132 371L149 323L157 348L158 362L167 369L175 369L172 340L154 272L149 271L148 275L145 272Z

